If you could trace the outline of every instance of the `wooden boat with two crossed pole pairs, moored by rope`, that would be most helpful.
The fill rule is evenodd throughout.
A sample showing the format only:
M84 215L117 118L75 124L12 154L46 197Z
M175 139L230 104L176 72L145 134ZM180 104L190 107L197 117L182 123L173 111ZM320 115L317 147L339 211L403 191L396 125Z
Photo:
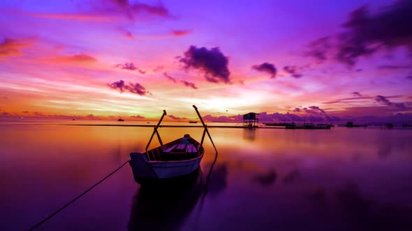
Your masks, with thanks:
M205 149L203 148L205 134L209 136L210 141L212 141L212 138L198 109L195 105L193 105L193 108L196 110L205 128L200 143L189 134L185 134L175 141L163 144L157 131L163 117L167 115L166 111L163 110L163 115L156 127L154 127L154 132L149 139L149 143L147 143L145 152L131 152L130 154L131 160L129 164L133 170L135 182L143 184L156 180L170 180L172 178L184 177L198 170L203 154L205 154ZM152 150L147 150L154 134L157 135L160 146ZM212 144L214 146L213 141ZM216 148L214 149L216 150Z

